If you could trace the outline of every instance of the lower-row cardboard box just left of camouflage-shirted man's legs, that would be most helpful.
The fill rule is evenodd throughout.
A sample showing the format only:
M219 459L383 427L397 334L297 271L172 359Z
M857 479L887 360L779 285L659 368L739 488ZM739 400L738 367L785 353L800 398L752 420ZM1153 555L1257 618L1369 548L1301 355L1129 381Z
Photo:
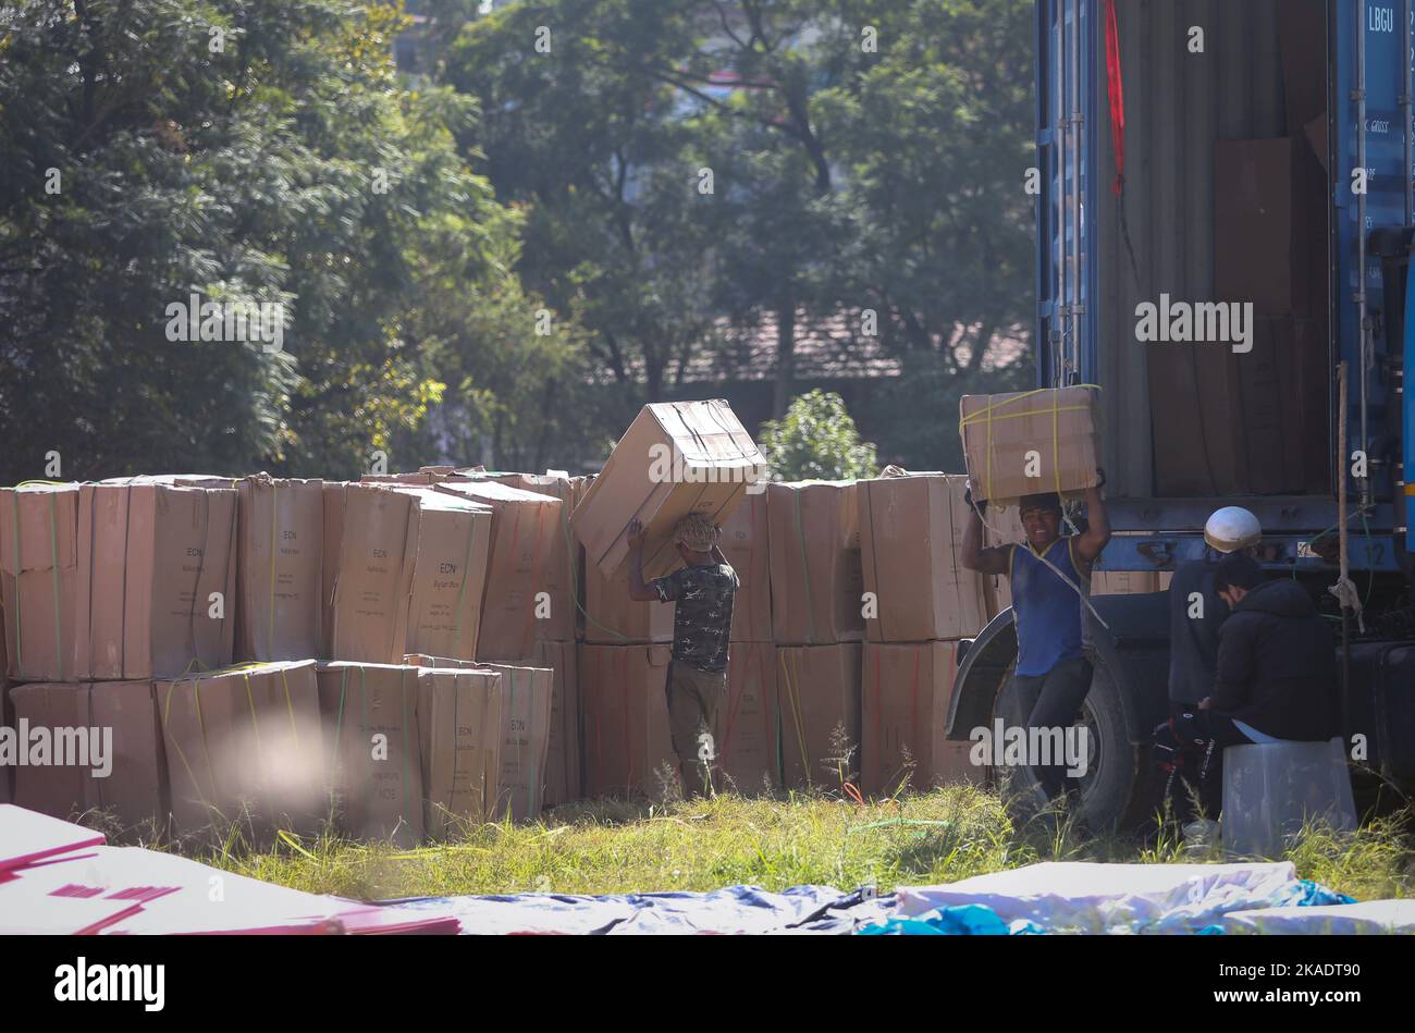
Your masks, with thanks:
M657 797L659 775L678 783L668 730L666 645L582 645L584 795Z

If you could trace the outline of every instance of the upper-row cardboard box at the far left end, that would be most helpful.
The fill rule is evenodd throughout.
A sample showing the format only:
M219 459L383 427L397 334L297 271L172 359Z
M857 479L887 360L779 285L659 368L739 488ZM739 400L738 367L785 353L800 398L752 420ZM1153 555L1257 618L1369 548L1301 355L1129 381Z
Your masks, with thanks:
M10 678L76 676L78 484L0 488L0 589Z

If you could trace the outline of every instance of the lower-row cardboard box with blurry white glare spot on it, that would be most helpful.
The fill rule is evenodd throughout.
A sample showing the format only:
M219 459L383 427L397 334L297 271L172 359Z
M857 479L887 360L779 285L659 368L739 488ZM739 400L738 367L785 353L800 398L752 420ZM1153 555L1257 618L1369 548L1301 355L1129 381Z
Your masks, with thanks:
M313 833L328 805L316 662L249 664L156 682L173 821Z

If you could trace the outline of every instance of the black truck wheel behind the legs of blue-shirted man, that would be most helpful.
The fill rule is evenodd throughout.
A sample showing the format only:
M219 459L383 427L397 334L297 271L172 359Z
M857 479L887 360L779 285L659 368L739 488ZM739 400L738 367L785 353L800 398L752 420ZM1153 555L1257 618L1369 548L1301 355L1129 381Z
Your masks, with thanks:
M1026 715L1020 713L1013 693L1010 671L993 703L993 717L1002 717L1006 727L1023 727L1026 723ZM1099 661L1075 725L1087 729L1087 770L1081 775L1081 814L1085 822L1099 832L1135 821L1133 808L1140 804L1136 791L1146 781L1139 777L1145 771L1145 757L1129 741L1119 689ZM999 768L996 774L1002 775L1000 781L1012 792L1041 801L1041 787L1030 768Z

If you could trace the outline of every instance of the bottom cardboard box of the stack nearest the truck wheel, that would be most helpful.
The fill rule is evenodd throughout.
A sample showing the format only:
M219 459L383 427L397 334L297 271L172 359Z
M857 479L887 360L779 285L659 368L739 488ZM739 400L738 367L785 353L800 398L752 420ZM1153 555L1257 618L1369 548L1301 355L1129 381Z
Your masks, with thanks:
M865 644L862 791L982 780L968 760L971 743L945 734L957 672L958 642Z

